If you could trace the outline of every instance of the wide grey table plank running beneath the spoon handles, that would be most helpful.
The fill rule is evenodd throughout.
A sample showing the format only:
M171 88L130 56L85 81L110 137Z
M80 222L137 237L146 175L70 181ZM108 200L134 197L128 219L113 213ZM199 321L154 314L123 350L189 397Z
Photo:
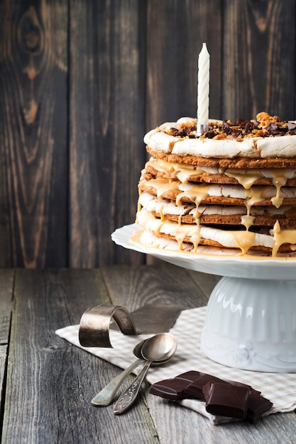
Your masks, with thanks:
M18 270L15 301L2 442L156 443L143 403L119 418L90 403L119 369L55 335L108 303L99 272Z

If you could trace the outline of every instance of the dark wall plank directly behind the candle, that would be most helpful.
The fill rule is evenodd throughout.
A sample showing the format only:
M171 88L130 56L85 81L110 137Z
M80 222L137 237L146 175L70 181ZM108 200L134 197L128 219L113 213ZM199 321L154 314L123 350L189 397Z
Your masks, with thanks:
M197 61L203 42L211 55L210 115L219 118L221 2L150 0L147 5L147 129L197 115Z

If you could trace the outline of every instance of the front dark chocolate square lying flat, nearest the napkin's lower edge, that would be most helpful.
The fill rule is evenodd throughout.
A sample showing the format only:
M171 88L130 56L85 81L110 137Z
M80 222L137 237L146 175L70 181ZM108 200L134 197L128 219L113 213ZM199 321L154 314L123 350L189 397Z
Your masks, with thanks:
M206 399L206 410L213 415L245 419L248 409L248 387L212 382Z

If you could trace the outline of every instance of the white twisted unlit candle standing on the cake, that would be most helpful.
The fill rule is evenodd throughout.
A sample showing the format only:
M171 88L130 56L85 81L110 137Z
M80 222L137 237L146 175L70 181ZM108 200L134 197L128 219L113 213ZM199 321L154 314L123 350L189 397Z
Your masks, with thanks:
M197 87L197 135L208 131L209 126L209 52L207 44L202 44L198 57Z

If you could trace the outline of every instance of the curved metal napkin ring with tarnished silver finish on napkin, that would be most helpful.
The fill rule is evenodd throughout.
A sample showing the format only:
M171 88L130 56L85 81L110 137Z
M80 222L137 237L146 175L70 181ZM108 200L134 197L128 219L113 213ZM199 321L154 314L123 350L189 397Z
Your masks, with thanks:
M124 335L136 335L130 313L119 305L96 305L84 311L80 319L79 340L83 347L112 348L109 338L111 318Z

